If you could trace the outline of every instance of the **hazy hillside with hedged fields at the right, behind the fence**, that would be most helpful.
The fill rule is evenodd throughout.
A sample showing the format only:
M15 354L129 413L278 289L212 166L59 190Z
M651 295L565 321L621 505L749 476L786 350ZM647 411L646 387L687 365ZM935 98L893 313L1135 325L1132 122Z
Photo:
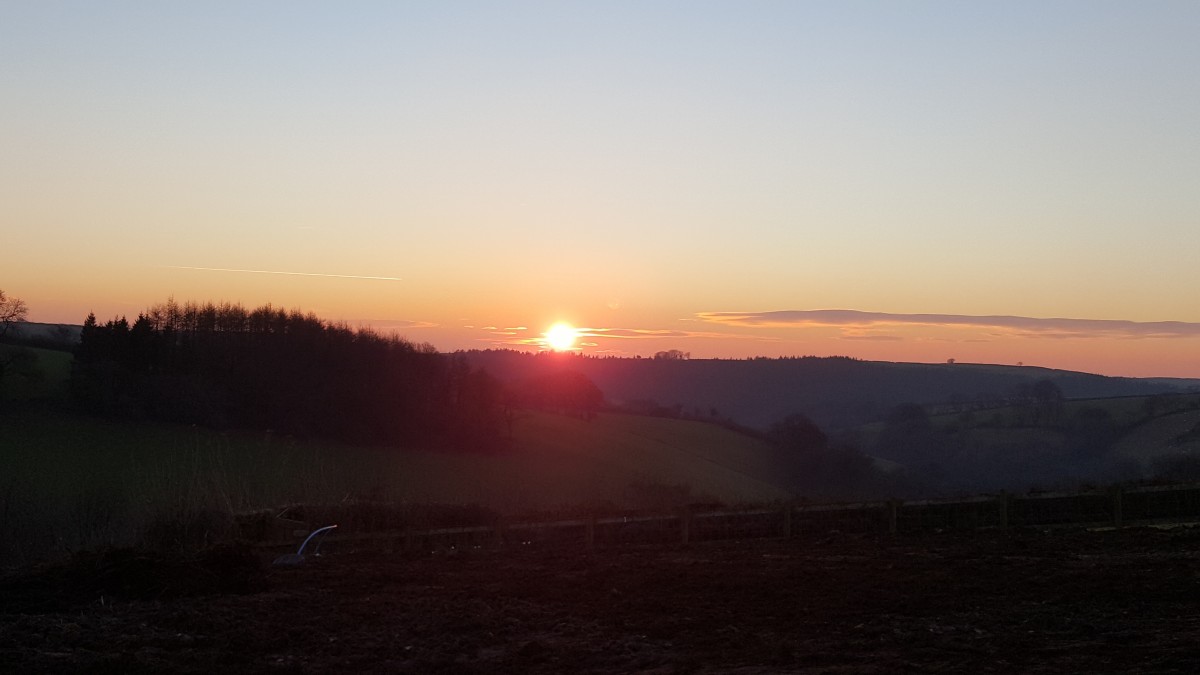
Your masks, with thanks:
M1200 478L1200 395L1063 402L1040 420L1028 406L872 423L865 452L942 489L1072 488L1151 478Z

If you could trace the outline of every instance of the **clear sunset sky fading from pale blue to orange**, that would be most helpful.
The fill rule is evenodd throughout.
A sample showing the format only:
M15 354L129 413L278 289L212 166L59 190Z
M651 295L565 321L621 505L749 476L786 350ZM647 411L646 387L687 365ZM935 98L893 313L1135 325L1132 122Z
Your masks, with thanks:
M0 1L0 288L1200 377L1200 4Z

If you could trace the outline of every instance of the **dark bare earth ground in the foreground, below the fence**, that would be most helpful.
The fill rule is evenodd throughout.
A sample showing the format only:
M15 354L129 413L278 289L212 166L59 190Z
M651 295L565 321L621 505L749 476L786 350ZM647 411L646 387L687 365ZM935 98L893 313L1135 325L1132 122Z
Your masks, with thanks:
M1195 673L1200 531L128 552L0 581L2 673Z

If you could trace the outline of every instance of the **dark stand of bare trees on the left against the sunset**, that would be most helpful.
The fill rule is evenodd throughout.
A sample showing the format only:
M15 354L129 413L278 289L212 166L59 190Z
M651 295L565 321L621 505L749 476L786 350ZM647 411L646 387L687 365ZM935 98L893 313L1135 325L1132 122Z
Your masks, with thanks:
M89 315L71 377L83 408L350 443L491 449L504 389L461 354L270 305Z

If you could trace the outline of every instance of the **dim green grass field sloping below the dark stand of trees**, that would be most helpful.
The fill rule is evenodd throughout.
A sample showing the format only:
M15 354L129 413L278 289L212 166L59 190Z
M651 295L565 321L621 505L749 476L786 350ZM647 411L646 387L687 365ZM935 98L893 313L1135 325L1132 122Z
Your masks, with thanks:
M784 500L770 449L724 428L526 413L498 454L361 448L119 423L52 406L0 414L0 563L136 540L172 514L368 500L502 513Z

